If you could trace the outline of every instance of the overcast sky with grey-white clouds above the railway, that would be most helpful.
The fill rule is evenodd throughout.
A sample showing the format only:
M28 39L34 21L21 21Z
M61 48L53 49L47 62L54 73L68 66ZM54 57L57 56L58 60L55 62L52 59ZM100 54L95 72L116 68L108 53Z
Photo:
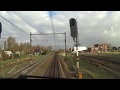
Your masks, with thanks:
M75 43L70 34L69 19L75 18L81 46L89 47L97 43L120 46L120 11L52 11L54 30L49 11L0 11L0 15L21 29L17 29L0 16L1 36L5 39L12 36L17 42L27 42L30 39L30 32L32 34L66 32L67 48L73 47ZM32 44L57 48L64 48L65 45L64 34L55 35L55 39L54 35L32 35L32 40Z

